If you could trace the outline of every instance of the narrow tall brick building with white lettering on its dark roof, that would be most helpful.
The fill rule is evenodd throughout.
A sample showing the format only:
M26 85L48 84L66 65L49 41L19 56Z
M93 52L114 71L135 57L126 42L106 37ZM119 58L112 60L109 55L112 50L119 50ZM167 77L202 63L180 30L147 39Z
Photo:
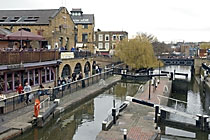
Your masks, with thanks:
M75 24L75 45L77 48L94 50L94 14L83 14L81 9L72 9L71 18Z

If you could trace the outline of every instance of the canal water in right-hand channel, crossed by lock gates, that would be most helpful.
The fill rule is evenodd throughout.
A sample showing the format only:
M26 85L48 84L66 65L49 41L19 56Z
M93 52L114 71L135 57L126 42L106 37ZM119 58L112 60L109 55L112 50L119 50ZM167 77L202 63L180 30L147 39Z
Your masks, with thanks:
M188 74L188 77L176 76L175 82L172 87L171 98L185 101L187 103L169 100L168 106L176 108L177 110L187 112L190 114L205 114L210 116L210 90L206 88L206 92L203 92L203 84L198 84L196 78L191 77L191 67L188 66L167 66L161 68L163 71L170 71ZM159 71L156 70L156 73ZM183 123L195 124L195 120L191 120L176 114L169 114L168 119L179 121ZM161 128L161 140L176 140L176 139L197 139L208 140L210 136L207 132L202 131L189 131L184 127L169 126L162 124Z

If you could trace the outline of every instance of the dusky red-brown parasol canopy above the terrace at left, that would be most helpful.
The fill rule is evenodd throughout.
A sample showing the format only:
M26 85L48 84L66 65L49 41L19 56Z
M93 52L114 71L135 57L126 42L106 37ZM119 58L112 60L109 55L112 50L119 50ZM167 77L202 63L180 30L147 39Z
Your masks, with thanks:
M8 40L44 40L42 36L36 35L25 30L11 33L9 35L6 35L5 38Z

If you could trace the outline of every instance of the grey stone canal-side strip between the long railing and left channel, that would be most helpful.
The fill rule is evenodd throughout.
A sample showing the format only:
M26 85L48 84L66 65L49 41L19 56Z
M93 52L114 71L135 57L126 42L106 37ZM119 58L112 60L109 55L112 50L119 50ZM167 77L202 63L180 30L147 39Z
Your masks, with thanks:
M62 111L64 111L69 107L74 109L74 107L77 105L79 106L82 101L85 102L88 98L96 96L96 94L100 94L100 91L120 79L121 76L112 76L104 82L98 82L79 91L66 94L63 98L61 98L61 102L57 107L57 110L62 109ZM14 112L0 115L0 140L14 138L32 128L31 122L33 120L33 113L34 105L29 105Z

